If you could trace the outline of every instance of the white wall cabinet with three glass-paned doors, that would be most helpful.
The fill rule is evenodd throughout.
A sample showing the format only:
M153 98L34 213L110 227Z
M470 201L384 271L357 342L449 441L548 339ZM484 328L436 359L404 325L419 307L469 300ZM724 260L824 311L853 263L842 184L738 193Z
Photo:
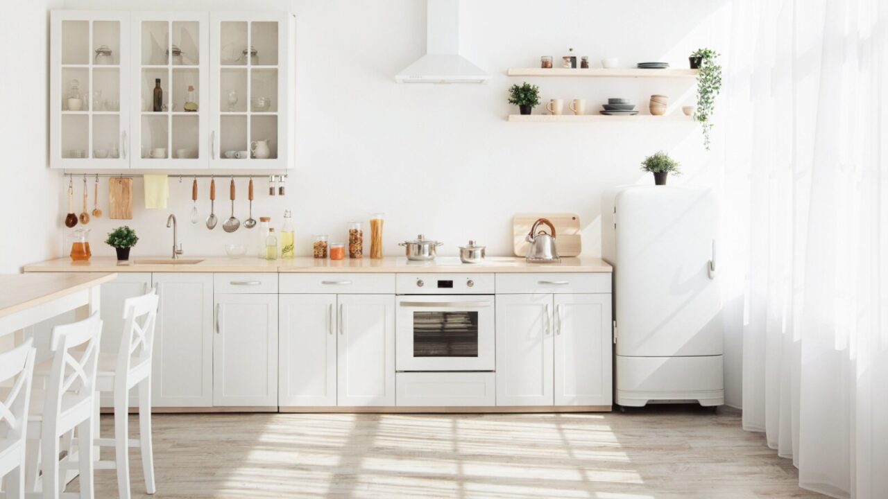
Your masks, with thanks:
M295 41L288 12L53 11L50 166L292 168Z

